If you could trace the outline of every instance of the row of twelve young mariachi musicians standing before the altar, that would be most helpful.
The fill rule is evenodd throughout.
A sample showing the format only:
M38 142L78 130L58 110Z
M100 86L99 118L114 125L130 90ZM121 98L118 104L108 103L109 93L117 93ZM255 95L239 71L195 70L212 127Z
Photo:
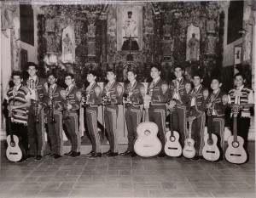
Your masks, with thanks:
M212 137L214 135L214 137L217 137L218 151L223 154L218 156L218 160L222 160L224 158L226 108L231 109L231 118L236 116L236 120L231 119L231 123L236 121L236 124L231 124L231 131L236 132L236 134L232 133L234 136L232 136L230 147L233 150L240 148L247 151L250 109L253 107L254 101L253 90L245 87L245 77L241 73L234 76L236 87L231 89L229 93L224 93L220 78L212 77L211 90L209 90L202 86L203 79L200 74L195 74L192 82L184 78L182 66L174 68L176 79L172 80L171 84L160 77L160 67L152 66L150 76L153 81L148 83L148 88L145 88L143 83L137 82L136 71L127 71L129 83L122 87L115 80L115 71L108 70L108 83L102 89L96 82L97 73L89 71L87 81L90 85L83 92L76 87L74 76L71 73L67 73L65 76L67 85L65 89L56 83L58 76L55 73L49 72L47 78L44 79L37 76L37 71L38 65L32 62L27 64L28 79L23 80L20 72L14 71L12 80L15 86L10 88L7 93L11 130L20 137L20 142L26 151L22 160L33 157L36 161L39 161L43 156L51 156L55 159L62 156L80 156L79 108L84 108L86 114L84 122L92 144L92 150L86 156L90 159L102 156L118 156L118 105L124 105L125 107L125 121L128 130L128 148L120 155L137 156L134 145L139 138L137 136L137 126L142 122L143 111L141 107L146 99L149 102L149 122L154 122L158 128L157 136L161 144L160 150L157 152L158 157L166 156L165 145L167 140L170 138L172 142L172 138L178 133L176 141L181 145L181 148L186 147L187 139L193 139L191 144L194 144L194 151L189 150L191 144L188 144L187 149L183 149L183 153L176 157L186 156L186 152L193 151L194 154L190 157L191 159L202 159L204 145L207 143L211 145L211 142L214 141ZM99 105L103 106L104 126L108 133L110 145L110 149L105 153L102 153L100 135L97 129ZM172 115L170 126L172 135L169 138L166 137L168 111ZM208 140L211 141L207 142L204 140L206 115L212 118L211 130L208 128L208 133L211 131L210 138L208 134ZM50 146L50 153L48 154L44 154L45 122L48 126ZM66 154L63 153L63 126L66 127L72 144L70 152ZM236 127L236 130L233 126ZM190 133L188 133L189 131ZM147 133L150 133L150 128L147 129ZM241 139L242 141L240 141ZM172 144L167 146L167 148L171 148L171 154L167 156L172 156L172 148L174 147ZM175 153L175 150L178 150L178 147L173 149L173 153ZM234 151L233 154L232 152L231 150L230 156L239 157L242 155L239 151L237 153ZM212 155L215 151L210 149L205 153Z

